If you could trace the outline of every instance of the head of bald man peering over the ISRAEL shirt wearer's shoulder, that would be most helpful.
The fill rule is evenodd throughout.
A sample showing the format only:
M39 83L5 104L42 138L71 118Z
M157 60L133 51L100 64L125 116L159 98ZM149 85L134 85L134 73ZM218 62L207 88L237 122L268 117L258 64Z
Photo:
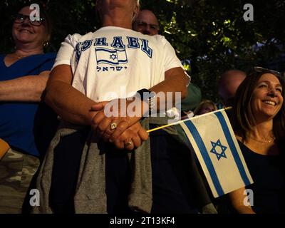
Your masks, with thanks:
M141 10L133 22L133 30L146 35L156 35L159 25L155 14L147 9Z

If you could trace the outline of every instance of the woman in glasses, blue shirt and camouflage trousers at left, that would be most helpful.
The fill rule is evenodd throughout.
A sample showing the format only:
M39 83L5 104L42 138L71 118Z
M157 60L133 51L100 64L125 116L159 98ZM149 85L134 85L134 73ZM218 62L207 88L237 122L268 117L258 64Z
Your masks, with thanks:
M43 51L51 37L48 15L29 8L12 16L15 50L0 55L0 213L21 212L44 150L38 130L48 123L36 128L45 112L39 103L56 53Z

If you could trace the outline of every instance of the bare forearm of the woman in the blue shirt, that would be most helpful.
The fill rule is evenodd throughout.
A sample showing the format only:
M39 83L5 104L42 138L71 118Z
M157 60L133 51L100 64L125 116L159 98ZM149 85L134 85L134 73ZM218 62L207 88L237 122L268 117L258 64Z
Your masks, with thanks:
M41 94L46 88L48 74L43 71L38 76L23 76L7 81L0 81L0 102L39 102Z

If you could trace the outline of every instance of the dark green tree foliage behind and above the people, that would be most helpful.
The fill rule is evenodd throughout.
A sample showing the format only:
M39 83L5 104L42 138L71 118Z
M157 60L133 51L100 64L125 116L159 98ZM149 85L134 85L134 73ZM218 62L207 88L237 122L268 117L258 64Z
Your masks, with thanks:
M25 3L30 1L0 3L4 28L0 31L1 53L13 48L9 18ZM94 0L43 3L55 27L48 51L57 51L68 33L86 33L100 26ZM254 6L254 21L243 19L243 6L247 3ZM180 59L191 60L193 82L202 89L203 98L216 100L216 81L222 72L265 66L284 53L285 30L281 25L285 21L284 0L142 0L141 8L154 11L161 34L172 43ZM264 46L253 48L257 43Z

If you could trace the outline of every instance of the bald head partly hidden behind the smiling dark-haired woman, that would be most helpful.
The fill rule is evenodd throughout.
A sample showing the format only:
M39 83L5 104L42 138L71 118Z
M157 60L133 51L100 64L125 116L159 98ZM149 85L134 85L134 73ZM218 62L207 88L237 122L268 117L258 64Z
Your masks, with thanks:
M234 95L237 92L237 88L244 81L246 77L244 71L231 70L222 74L219 79L219 96L222 99L222 103L226 106L232 105Z

